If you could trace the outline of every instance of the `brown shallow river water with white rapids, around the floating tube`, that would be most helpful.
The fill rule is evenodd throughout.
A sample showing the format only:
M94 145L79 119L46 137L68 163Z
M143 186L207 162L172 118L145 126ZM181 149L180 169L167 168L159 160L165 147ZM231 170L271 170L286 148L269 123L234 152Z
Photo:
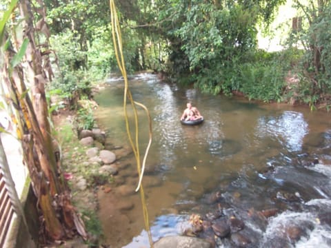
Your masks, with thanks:
M153 241L186 234L192 214L206 219L221 209L245 224L239 231L247 241L243 247L331 247L330 114L201 94L152 74L132 76L129 83L134 101L152 117L143 185ZM140 194L134 193L138 177L124 122L123 81L110 79L94 99L98 124L119 158L110 192L98 193L105 243L149 247ZM201 125L179 122L188 101L204 116ZM137 108L143 151L148 121ZM261 216L270 209L274 214ZM216 238L216 247L239 247L232 236Z

